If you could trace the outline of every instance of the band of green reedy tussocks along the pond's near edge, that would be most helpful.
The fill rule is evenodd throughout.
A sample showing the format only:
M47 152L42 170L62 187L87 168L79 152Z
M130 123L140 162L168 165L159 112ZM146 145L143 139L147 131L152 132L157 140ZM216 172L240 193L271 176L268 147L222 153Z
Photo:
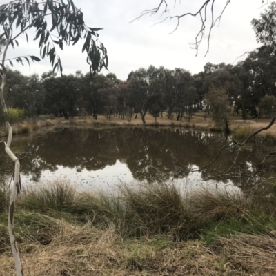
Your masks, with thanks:
M121 237L165 235L177 241L231 230L266 233L276 226L271 204L268 208L257 197L208 189L187 195L173 184L122 186L117 193L77 193L70 183L58 179L28 188L18 205L50 215L61 212L80 223L92 221L101 229L112 224Z

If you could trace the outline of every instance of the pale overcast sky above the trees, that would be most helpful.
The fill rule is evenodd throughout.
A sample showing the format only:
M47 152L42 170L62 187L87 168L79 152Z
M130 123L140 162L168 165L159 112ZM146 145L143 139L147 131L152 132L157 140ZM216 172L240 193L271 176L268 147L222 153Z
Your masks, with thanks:
M0 3L4 0L0 0ZM174 3L174 0L168 0ZM195 12L204 0L177 0L175 8L171 6L170 15L181 12ZM159 0L75 0L75 5L81 8L84 20L90 27L103 28L99 32L99 39L106 46L109 57L109 72L113 72L121 80L126 80L132 70L140 67L164 66L169 69L184 68L193 74L203 70L207 62L231 63L246 51L257 47L255 33L250 21L264 11L262 0L232 0L226 8L219 27L213 28L210 38L210 52L204 57L207 49L206 41L201 43L199 53L195 57L195 50L189 43L195 41L200 28L200 22L193 17L181 20L179 28L172 34L176 21L165 21L152 26L166 17L161 13L155 16L145 16L139 21L130 23L135 17L148 8L154 8ZM224 7L226 0L215 1L215 12ZM209 19L210 21L210 19ZM207 36L206 36L207 37ZM37 55L39 49L37 41L29 39L29 44L19 40L19 48L8 52L8 57L17 55ZM83 41L75 46L59 49L63 63L63 74L74 74L76 70L88 72L86 56L81 54ZM236 61L237 62L237 61ZM48 59L40 63L14 65L24 75L34 72L41 75L51 70ZM102 71L106 75L106 70Z

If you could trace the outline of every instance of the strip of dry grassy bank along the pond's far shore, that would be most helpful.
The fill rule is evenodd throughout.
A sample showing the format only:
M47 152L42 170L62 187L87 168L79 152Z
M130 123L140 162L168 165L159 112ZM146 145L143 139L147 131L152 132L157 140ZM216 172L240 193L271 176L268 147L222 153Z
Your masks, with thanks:
M138 116L137 119L132 118L131 121L114 117L111 121L106 117L99 115L98 119L95 120L92 117L86 119L74 119L65 120L63 118L55 118L48 116L41 116L40 119L32 121L23 121L21 123L12 124L14 135L21 133L30 133L35 130L39 130L44 127L64 127L64 126L86 126L86 127L104 127L104 126L142 126L141 118ZM244 139L251 132L263 128L268 125L268 119L259 119L258 121L249 120L244 121L240 116L230 117L230 131L233 133L235 138ZM207 130L211 132L224 132L224 128L216 126L215 122L209 117L205 116L204 112L197 112L191 121L177 121L176 119L167 119L165 114L164 117L158 117L157 122L151 115L146 115L146 123L149 127L171 127L171 128L186 128L193 130ZM6 136L8 133L2 126L0 129L0 137ZM266 137L276 137L276 126L272 126L269 130L262 132L260 135Z

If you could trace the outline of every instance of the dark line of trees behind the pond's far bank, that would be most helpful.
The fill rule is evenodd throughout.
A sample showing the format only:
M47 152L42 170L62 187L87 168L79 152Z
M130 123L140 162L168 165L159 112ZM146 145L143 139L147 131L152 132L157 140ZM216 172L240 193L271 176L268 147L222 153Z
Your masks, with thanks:
M276 103L276 59L270 46L262 46L237 65L206 63L192 75L187 70L164 67L139 68L127 81L115 74L57 77L52 72L23 76L8 69L6 99L10 108L38 115L73 116L119 115L131 119L146 112L157 119L166 111L168 119L190 120L197 110L213 112L216 121L229 112L248 117L267 117Z

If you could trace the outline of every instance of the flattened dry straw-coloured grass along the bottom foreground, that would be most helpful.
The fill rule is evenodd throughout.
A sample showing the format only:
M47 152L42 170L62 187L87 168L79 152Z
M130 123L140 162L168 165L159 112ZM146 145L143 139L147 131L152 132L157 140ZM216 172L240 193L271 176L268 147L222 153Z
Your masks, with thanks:
M99 231L91 224L57 221L59 232L49 244L19 244L26 275L276 275L276 241L262 235L220 237L211 247L201 241L123 240L110 225ZM14 275L7 247L0 275Z

